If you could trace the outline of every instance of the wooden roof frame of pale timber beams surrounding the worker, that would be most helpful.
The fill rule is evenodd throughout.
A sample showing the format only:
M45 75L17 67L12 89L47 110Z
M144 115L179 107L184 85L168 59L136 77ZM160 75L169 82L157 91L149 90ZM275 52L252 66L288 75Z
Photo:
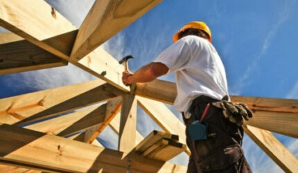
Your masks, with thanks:
M0 59L7 62L0 64L0 74L45 69L71 62L101 80L1 99L0 122L5 124L0 125L0 145L3 146L0 147L0 162L50 172L100 169L119 172L128 169L135 172L185 172L185 167L134 153L134 147L143 140L135 128L137 104L161 129L177 134L180 137L179 143L185 145L184 125L162 103L173 104L177 95L175 84L162 80L137 84L135 95L132 95L130 89L121 82L123 66L98 48L161 0L137 3L132 0L96 1L79 30L44 1L28 1L0 0L0 26L22 37L0 35ZM36 58L30 59L34 55L37 55ZM297 158L266 130L297 138L298 100L244 96L232 96L231 99L234 102L245 102L255 111L254 118L245 122L247 134L286 172L297 167ZM98 107L69 113L106 101ZM117 116L120 109L121 116ZM67 115L24 128L16 126L67 112ZM96 137L107 125L119 134L120 152L87 144L96 141ZM85 143L59 137L81 130L85 132L73 138ZM263 134L272 139L277 147L270 146L272 143L268 143L262 137ZM19 136L24 137L24 140L20 140ZM49 145L41 145L44 143ZM166 142L161 140L160 143ZM12 147L8 147L10 145ZM279 153L279 149L286 154ZM190 154L186 148L184 152ZM162 153L159 156L162 158ZM137 163L128 163L128 158ZM81 159L87 162L76 164ZM73 165L77 167L74 169ZM0 169L21 168L0 166Z

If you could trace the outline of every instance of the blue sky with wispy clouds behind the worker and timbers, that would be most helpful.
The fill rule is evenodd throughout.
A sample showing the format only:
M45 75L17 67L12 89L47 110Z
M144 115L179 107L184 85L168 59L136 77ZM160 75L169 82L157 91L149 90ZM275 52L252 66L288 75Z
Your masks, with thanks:
M80 26L93 0L48 3L73 24ZM229 93L298 99L297 0L164 0L109 39L103 48L116 59L133 55L135 58L130 61L130 69L135 71L155 60L161 51L173 44L173 34L189 21L205 21L209 25L213 45L225 64ZM91 79L94 77L72 65L2 75L0 98ZM167 75L162 79L174 81L174 76ZM145 136L152 129L158 128L141 109L138 113L138 129L141 134ZM108 136L116 141L116 135L110 129L100 136L100 140L107 147L115 147L115 143L107 140ZM298 156L296 139L276 136ZM255 172L281 172L249 138L245 137L243 147ZM186 164L186 160L182 154L175 162Z

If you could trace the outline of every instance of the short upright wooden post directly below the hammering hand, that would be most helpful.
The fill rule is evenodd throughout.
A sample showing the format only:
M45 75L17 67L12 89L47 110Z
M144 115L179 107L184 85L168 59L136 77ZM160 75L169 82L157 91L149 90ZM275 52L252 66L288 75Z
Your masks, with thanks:
M125 94L122 100L118 149L130 152L136 145L137 99L135 95Z

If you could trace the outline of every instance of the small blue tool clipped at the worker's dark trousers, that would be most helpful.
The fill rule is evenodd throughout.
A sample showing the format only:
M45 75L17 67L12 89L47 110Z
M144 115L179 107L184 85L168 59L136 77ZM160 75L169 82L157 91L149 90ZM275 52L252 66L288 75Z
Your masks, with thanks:
M189 136L192 140L204 140L208 138L207 125L202 122L195 120L189 125Z

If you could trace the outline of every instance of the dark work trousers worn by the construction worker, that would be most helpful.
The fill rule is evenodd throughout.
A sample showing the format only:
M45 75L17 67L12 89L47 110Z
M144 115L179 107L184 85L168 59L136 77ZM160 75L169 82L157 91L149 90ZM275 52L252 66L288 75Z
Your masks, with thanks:
M199 172L252 172L241 148L243 128L229 122L222 110L210 104L207 114L202 120L207 125L208 134L205 140L191 140L188 129L191 122L200 120L207 103L216 102L201 95L193 100L189 112L191 118L184 118L186 125L186 143L191 149L188 173Z

